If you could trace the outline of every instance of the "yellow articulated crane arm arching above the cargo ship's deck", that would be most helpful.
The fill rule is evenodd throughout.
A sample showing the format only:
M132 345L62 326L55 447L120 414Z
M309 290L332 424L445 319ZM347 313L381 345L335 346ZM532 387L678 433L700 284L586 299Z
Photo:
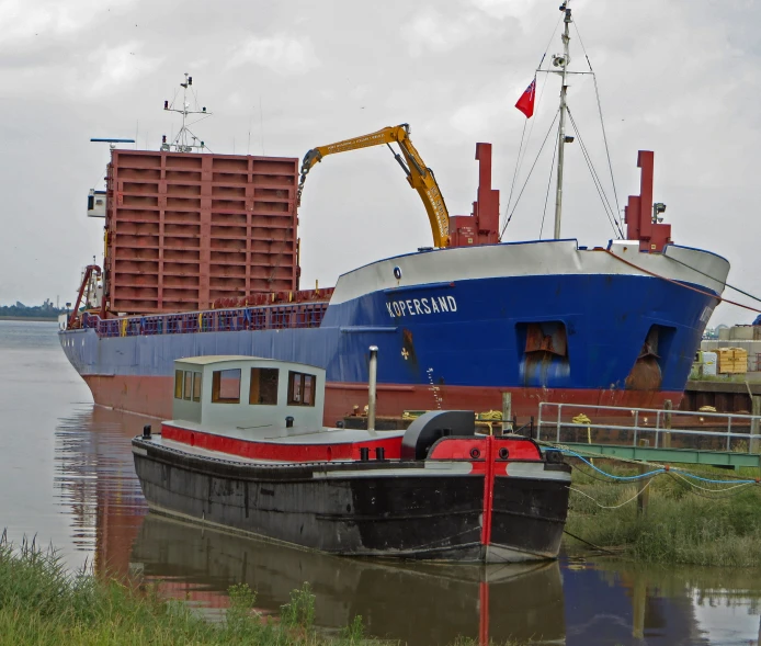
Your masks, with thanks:
M398 126L383 128L370 135L313 148L304 156L302 177L296 193L296 203L299 205L302 203L302 192L304 191L304 182L307 179L307 173L318 161L322 161L325 156L386 144L405 171L409 185L418 192L420 199L423 201L425 213L428 213L428 219L431 223L433 245L435 247L448 247L450 213L446 209L446 204L444 204L444 197L441 194L433 171L428 168L425 162L420 158L419 152L414 149L414 146L412 146L412 141L410 141L409 134L410 127L405 123ZM394 141L399 145L401 155L405 157L404 159L391 148L390 144Z

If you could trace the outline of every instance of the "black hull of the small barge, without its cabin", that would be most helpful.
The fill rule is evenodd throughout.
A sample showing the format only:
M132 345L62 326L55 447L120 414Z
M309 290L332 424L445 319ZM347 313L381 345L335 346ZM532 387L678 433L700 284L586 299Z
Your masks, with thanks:
M159 513L348 555L462 563L557 556L568 468L496 477L485 541L485 475L470 463L264 465L215 460L133 441L135 468Z

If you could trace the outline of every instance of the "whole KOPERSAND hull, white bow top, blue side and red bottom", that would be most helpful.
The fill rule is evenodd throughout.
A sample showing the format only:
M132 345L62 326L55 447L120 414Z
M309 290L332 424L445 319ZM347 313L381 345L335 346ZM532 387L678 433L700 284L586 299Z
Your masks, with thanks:
M573 240L440 250L344 274L319 327L118 338L86 329L61 332L61 343L95 401L158 416L171 404L175 359L240 354L325 367L332 423L366 404L370 345L379 349L386 415L435 408L438 398L499 409L502 392L525 413L538 400L659 404L683 390L727 272L726 260L674 246L663 254ZM138 397L147 378L161 393Z

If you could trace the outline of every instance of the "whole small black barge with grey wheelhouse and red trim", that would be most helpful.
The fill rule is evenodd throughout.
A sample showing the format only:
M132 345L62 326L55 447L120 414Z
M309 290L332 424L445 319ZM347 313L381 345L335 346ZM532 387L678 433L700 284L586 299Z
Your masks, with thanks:
M337 555L557 556L570 467L534 441L476 434L462 410L406 431L327 428L323 394L314 366L177 361L174 419L133 440L151 511Z

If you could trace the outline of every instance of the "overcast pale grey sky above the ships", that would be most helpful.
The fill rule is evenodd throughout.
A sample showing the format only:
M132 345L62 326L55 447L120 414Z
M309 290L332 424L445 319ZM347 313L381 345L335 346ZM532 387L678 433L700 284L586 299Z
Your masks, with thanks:
M537 154L557 110L557 77L538 75L529 122L514 104L543 54L561 50L558 4L0 0L0 304L75 299L82 268L102 256L103 220L87 217L86 200L103 188L109 150L90 138L133 137L157 149L179 127L162 107L183 72L214 115L193 128L214 152L300 159L315 146L409 123L451 215L470 213L475 145L490 141L502 222L511 185L514 204L525 183L503 239L548 237L552 145ZM655 200L667 204L674 242L724 256L729 283L761 295L761 2L570 7L569 69L588 71L588 57L600 103L590 76L573 78L568 103L611 202L623 208L638 193L637 150L654 150ZM578 140L567 147L564 194L563 237L606 245L614 231ZM299 237L305 288L432 241L422 204L385 147L313 170ZM761 307L729 290L725 297ZM754 317L722 305L711 325Z

